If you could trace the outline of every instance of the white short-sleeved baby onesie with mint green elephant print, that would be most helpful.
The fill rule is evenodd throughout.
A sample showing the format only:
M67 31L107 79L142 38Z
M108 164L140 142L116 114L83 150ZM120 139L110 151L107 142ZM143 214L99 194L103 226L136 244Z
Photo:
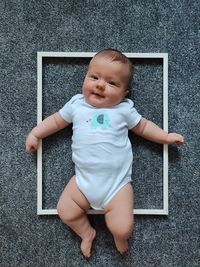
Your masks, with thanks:
M115 194L131 182L132 147L128 129L141 115L130 99L110 108L89 105L75 95L59 110L73 123L72 160L76 183L92 208L104 209Z

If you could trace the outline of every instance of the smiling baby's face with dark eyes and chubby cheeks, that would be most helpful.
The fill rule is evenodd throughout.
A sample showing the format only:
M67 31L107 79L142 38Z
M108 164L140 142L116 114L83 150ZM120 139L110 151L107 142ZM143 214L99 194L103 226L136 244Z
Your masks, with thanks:
M129 67L118 61L97 56L90 62L83 83L83 95L94 107L112 107L128 94Z

